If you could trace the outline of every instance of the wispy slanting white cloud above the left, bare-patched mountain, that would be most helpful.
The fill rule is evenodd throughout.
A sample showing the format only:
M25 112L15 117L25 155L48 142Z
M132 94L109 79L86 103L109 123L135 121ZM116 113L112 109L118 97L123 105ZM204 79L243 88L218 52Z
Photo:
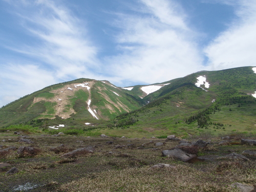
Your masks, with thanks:
M53 1L23 1L16 8L23 27L30 32L37 45L22 45L12 50L27 54L50 65L55 77L80 77L88 68L97 67L97 48L88 37L84 23L72 16L70 11ZM21 11L20 9L25 9ZM26 9L29 11L26 12ZM34 11L31 11L34 9ZM70 70L73 68L76 71ZM68 70L67 70L68 69Z

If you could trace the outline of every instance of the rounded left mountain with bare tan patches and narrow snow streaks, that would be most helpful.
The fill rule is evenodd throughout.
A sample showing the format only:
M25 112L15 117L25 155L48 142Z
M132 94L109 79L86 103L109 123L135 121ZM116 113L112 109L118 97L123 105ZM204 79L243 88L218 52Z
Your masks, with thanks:
M109 81L77 79L49 86L0 109L0 126L41 118L109 120L139 109L141 98Z

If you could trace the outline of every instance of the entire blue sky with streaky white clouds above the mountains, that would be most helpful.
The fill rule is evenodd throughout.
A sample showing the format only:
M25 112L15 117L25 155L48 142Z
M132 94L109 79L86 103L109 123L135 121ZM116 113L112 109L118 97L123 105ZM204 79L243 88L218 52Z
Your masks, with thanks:
M251 0L0 0L0 106L77 78L151 84L256 66Z

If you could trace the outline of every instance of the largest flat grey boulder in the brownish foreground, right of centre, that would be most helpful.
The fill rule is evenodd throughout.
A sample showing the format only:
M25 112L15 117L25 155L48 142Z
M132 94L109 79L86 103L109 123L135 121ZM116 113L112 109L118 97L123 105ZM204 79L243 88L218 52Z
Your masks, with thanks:
M192 159L194 157L197 157L196 155L186 153L182 151L180 148L174 148L174 150L164 150L162 151L162 155L164 157L174 157L176 159L179 159L181 161L188 161L189 159Z

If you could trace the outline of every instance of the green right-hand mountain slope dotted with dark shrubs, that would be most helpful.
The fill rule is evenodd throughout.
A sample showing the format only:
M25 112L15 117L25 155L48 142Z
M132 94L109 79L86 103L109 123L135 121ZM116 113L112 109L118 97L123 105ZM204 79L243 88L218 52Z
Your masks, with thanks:
M203 90L195 85L199 76L206 77L209 88L201 85ZM251 96L255 91L252 67L198 72L174 79L144 97L149 104L118 116L116 124L159 135L194 135L209 130L256 133L256 100ZM192 120L187 122L189 118Z

